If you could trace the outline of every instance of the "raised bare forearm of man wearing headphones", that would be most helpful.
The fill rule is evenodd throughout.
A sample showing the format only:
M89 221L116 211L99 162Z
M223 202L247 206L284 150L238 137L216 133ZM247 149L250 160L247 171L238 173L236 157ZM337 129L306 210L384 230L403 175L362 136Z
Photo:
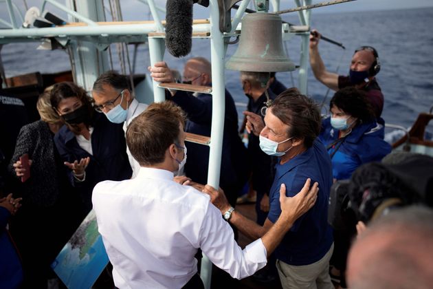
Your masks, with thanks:
M309 45L311 70L313 70L313 74L315 78L318 79L318 81L320 81L327 87L337 91L338 74L326 70L326 67L324 66L324 63L322 61L322 57L320 57L319 53L320 33L316 30L313 30L312 32L313 34L310 34Z

